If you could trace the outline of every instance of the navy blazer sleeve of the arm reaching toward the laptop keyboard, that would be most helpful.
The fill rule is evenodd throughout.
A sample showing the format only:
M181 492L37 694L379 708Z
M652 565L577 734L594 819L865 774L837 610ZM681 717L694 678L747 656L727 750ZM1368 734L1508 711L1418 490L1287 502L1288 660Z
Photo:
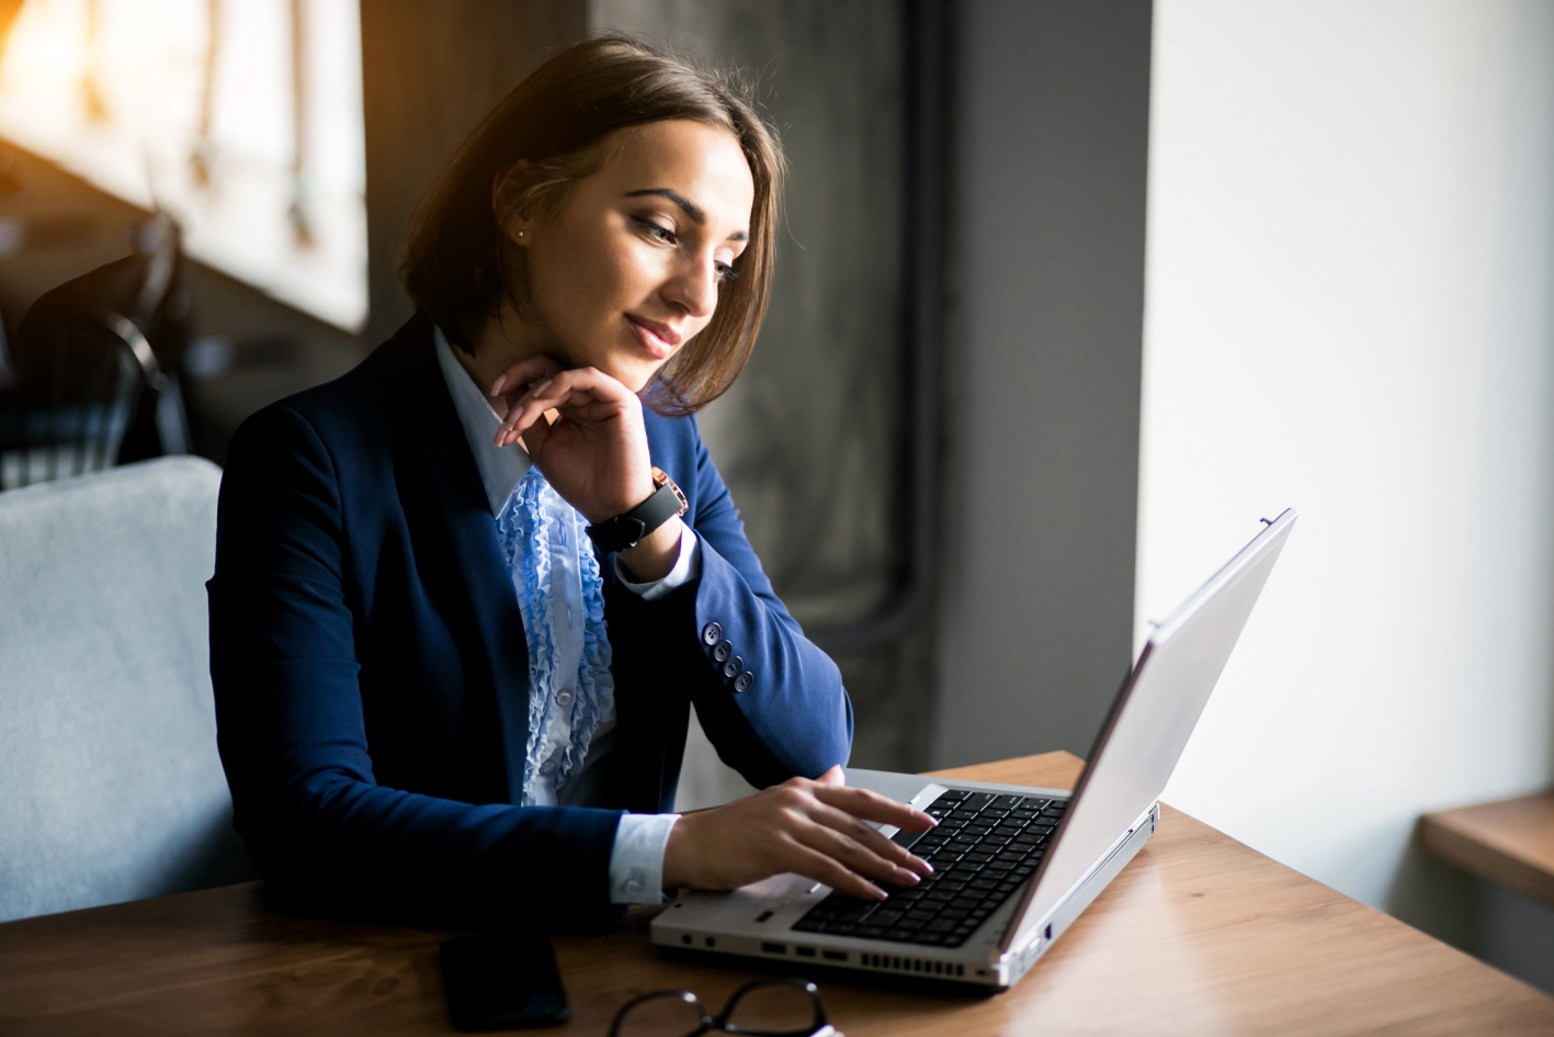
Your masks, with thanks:
M471 805L373 777L340 480L309 421L238 431L208 583L218 742L236 824L272 888L331 911L591 928L618 916L620 812Z

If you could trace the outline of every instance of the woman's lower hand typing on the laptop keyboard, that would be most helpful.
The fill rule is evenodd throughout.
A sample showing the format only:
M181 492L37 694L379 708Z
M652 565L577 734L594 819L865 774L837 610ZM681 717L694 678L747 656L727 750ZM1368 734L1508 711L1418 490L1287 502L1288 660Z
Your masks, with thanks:
M664 850L664 885L735 889L791 871L853 897L883 900L875 883L912 886L932 872L866 821L909 832L937 824L876 793L845 788L842 768L833 766L819 780L793 777L726 807L687 813Z

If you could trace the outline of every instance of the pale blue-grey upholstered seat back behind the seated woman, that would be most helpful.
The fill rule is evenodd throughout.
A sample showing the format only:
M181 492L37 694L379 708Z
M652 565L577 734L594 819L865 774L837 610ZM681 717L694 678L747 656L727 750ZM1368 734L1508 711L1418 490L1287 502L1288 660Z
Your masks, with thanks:
M216 752L221 470L0 494L0 920L256 877Z

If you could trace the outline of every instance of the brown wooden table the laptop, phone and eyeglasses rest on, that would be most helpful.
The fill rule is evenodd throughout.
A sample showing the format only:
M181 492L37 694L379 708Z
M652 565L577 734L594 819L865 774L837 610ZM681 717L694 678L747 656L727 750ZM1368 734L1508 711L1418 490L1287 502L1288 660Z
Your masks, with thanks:
M1072 787L1049 752L943 771ZM1554 998L1170 807L1139 857L1009 993L822 986L875 1034L1554 1034ZM720 1004L749 973L662 959L646 920L558 937L567 1034L642 990ZM0 1034L441 1034L441 933L266 913L228 886L0 925Z

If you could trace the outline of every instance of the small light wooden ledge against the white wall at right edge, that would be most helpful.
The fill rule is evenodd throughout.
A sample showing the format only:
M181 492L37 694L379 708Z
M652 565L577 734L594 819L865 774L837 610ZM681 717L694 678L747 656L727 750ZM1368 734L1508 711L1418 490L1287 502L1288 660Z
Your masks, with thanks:
M1554 908L1554 793L1427 813L1419 840L1462 871Z

